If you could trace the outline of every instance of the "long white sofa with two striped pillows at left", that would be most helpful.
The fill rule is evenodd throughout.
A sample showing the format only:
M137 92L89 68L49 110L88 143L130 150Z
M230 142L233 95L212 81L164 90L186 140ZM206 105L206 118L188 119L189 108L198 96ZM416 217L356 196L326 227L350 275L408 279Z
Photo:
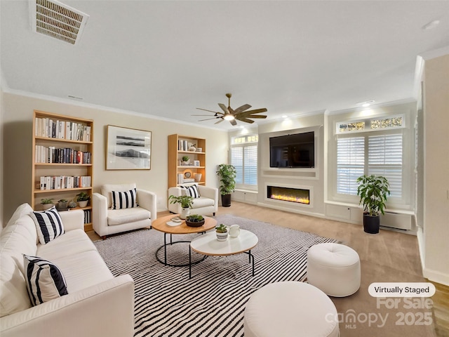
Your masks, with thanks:
M65 234L44 245L31 212L19 206L0 233L0 336L133 336L133 279L109 271L83 230L83 211L60 212ZM23 254L57 265L68 294L32 306Z

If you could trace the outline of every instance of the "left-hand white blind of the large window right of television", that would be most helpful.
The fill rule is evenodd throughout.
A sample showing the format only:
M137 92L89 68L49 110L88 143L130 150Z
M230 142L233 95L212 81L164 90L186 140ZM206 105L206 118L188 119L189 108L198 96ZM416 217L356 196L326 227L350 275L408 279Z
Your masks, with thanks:
M363 175L365 138L351 137L337 140L337 193L357 195L356 180Z

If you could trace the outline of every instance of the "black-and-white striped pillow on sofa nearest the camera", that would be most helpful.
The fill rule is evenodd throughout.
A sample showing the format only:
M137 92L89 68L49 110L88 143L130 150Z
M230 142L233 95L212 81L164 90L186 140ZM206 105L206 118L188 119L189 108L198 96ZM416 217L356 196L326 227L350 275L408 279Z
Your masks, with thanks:
M33 305L67 295L67 283L55 264L25 254L23 260L29 299Z

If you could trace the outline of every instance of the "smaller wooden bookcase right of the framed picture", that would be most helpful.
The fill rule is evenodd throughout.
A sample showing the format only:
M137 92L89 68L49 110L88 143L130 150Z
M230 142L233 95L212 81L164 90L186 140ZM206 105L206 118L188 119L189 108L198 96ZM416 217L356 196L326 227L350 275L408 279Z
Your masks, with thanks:
M186 143L187 148L185 147ZM189 151L192 144L196 144L196 148L201 148L201 152ZM191 165L180 164L183 156L190 158ZM199 166L194 166L194 161L199 161ZM206 184L206 139L178 134L170 135L168 136L168 187L194 183L180 182L179 175L184 176L187 172L191 173L191 178L194 178L194 173L201 173L201 180L198 184Z

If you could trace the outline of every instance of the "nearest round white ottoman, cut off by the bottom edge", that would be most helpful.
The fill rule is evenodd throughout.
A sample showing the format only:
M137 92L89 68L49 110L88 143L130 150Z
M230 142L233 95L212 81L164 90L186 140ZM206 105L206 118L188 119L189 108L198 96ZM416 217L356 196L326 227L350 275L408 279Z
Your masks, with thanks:
M276 282L262 286L246 303L245 337L337 337L335 305L315 286Z

